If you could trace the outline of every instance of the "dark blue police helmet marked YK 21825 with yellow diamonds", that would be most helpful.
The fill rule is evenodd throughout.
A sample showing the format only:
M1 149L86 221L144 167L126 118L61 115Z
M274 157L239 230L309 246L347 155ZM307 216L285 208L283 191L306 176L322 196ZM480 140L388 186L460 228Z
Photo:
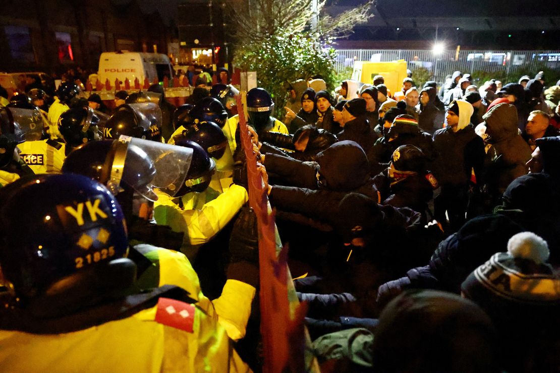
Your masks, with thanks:
M2 188L0 201L0 267L21 304L64 302L67 295L87 301L95 291L128 286L136 276L133 263L122 259L128 253L124 216L100 183L80 175L40 174ZM128 282L99 274L115 275L117 267L127 268Z

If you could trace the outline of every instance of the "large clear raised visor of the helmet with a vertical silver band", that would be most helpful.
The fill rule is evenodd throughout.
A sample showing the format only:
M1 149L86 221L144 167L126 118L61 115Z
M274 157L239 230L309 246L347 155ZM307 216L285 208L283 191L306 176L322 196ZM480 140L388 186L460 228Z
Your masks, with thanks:
M150 183L138 186L135 190L141 193L144 197L150 200L154 199L153 188L161 189L170 196L174 196L181 185L183 185L186 174L189 171L190 162L193 157L193 150L185 147L178 147L176 145L169 145L158 143L157 141L143 140L131 138L129 136L120 136L119 141L127 142L129 145L134 145L146 154L155 168L155 175ZM128 162L132 162L132 154L127 153L125 158L125 166L128 168ZM130 166L134 167L133 164ZM126 173L129 174L129 173ZM130 173L131 177L137 178L137 174ZM123 172L123 178L125 173ZM134 185L133 180L125 180L128 185Z

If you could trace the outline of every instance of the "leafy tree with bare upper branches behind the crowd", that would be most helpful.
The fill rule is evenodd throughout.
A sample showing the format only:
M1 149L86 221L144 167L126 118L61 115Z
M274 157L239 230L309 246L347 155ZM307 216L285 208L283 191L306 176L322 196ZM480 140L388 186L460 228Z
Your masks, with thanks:
M333 89L337 55L329 45L372 17L373 3L333 17L324 12L325 0L230 0L234 64L255 71L259 87L267 89L281 110L287 83L321 75Z

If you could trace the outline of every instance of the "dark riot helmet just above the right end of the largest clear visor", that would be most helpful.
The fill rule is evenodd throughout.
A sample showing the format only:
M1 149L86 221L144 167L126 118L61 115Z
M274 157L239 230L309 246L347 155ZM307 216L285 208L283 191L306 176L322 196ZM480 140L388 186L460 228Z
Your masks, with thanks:
M175 144L190 140L200 145L208 155L220 159L226 152L227 138L222 129L214 122L198 122L188 126L183 133L175 136Z

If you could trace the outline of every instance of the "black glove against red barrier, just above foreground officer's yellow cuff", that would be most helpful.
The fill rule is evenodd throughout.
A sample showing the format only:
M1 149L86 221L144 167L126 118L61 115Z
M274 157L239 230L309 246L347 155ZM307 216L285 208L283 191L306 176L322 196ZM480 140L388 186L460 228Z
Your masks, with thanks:
M249 262L259 265L259 232L255 211L241 207L230 236L230 263Z

